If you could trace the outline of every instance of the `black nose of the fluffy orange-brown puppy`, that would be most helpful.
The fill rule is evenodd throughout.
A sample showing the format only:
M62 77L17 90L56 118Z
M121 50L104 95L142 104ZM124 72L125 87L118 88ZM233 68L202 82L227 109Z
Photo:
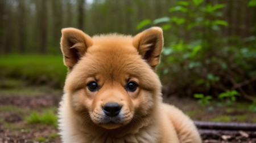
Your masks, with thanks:
M118 103L106 103L102 109L107 116L117 116L122 107Z

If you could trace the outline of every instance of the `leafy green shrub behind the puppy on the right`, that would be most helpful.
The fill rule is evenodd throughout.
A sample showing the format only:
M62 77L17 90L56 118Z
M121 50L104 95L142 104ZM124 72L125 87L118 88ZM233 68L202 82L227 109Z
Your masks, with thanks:
M168 10L171 17L147 21L146 27L157 25L164 31L166 46L159 75L163 83L175 86L169 92L187 96L200 93L195 98L201 104L208 104L211 96L234 102L241 90L250 97L256 94L252 88L256 77L256 38L223 34L229 27L223 18L223 8L223 3L177 1ZM237 85L247 80L252 82L237 90Z

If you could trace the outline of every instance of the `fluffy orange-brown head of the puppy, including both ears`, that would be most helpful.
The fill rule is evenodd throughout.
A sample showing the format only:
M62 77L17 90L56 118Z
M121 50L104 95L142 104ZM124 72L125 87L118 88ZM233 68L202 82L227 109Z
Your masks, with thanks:
M160 99L155 73L163 47L162 29L134 37L90 37L75 28L62 31L61 51L69 73L64 90L85 124L106 129L141 122Z

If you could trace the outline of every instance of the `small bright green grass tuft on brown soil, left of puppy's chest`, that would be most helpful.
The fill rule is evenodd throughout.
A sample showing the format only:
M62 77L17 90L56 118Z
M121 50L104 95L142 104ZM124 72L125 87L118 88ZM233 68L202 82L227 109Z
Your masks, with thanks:
M44 112L39 114L36 111L32 111L31 114L25 118L25 120L30 124L43 123L47 125L54 125L55 127L57 126L57 117L52 112Z

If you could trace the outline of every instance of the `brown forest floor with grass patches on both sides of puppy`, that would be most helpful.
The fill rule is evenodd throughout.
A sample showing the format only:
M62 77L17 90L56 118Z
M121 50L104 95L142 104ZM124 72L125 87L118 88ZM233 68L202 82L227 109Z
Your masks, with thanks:
M0 143L60 142L56 112L61 94L61 89L50 86L1 79ZM256 123L256 114L248 110L249 103L246 102L233 105L212 102L208 106L202 106L195 99L177 96L164 98L164 101L179 107L193 120ZM203 137L204 142L256 142L254 137L237 138L229 135Z

